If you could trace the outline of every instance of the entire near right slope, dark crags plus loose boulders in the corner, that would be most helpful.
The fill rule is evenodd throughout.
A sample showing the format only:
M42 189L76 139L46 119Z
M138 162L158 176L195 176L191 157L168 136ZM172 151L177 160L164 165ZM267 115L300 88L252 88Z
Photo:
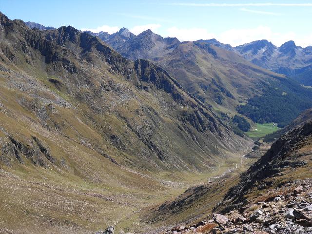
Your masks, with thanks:
M311 234L312 122L291 130L231 188L207 220L166 234Z

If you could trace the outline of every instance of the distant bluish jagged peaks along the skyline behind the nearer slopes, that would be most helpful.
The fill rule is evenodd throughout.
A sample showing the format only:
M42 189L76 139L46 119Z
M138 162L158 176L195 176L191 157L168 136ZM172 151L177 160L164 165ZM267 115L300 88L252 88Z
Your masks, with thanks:
M26 24L31 28L34 28L37 25L40 30L45 28L40 24L30 24L30 22L27 22ZM47 27L46 29L49 28L51 27ZM122 36L122 33L124 32L127 32L126 34L129 36ZM100 39L111 45L121 55L132 60L154 59L159 56L164 56L181 43L176 38L162 38L161 36L152 33L151 30L147 30L137 36L132 34L126 28L121 28L118 32L112 35L104 32L88 33L93 36L98 36ZM291 40L285 42L280 47L277 47L266 39L252 41L236 47L232 47L230 44L223 44L216 39L201 39L197 42L206 42L229 51L234 51L244 59L247 59L260 67L292 77L304 85L311 84L312 46L302 48L296 46L294 41ZM148 54L146 54L147 51Z

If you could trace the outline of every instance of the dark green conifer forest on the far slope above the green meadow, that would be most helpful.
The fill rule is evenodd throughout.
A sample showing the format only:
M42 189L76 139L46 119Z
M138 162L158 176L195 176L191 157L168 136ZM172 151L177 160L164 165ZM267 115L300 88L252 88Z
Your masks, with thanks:
M254 122L278 123L284 127L301 112L312 107L312 90L300 86L290 78L278 78L263 84L263 94L248 99L237 111Z

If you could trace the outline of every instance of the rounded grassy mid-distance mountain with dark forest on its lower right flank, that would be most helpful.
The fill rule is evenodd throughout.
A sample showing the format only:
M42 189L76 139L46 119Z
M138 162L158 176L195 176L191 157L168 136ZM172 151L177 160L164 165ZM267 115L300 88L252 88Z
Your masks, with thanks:
M255 122L285 126L312 106L311 90L205 41L183 42L156 62L206 105Z

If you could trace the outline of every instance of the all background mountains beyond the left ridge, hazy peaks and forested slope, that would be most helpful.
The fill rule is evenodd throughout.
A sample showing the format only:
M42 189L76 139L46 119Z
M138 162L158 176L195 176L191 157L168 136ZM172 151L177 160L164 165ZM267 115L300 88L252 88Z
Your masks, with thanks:
M122 36L125 31L129 37ZM298 57L306 61L300 63L302 66L307 65L309 47L302 49L287 42L277 48L263 40L233 48L216 39L180 42L176 38L162 38L151 30L135 36L125 28L104 42L128 59L152 60L206 106L229 116L226 118L239 113L254 122L275 122L282 127L312 107L311 90L301 87L293 78L260 68L281 73L285 70L281 68L283 62L290 61L290 58L297 61ZM267 63L254 58L260 50L264 51L262 60L271 56ZM279 65L268 67L273 61ZM297 69L298 66L288 67ZM273 99L274 103L270 101ZM289 103L287 109L276 108L276 103L284 102Z

